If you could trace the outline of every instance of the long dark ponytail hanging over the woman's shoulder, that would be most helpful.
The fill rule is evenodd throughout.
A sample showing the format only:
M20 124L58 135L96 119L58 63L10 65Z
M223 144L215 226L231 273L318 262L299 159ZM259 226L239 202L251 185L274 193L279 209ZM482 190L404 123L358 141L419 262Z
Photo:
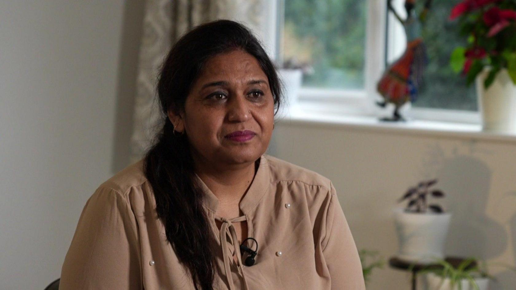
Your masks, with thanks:
M195 173L186 134L173 132L166 119L163 133L146 156L145 172L153 187L156 212L166 227L167 240L179 261L189 270L196 289L213 289L214 257L209 247L211 233L202 207L201 189Z

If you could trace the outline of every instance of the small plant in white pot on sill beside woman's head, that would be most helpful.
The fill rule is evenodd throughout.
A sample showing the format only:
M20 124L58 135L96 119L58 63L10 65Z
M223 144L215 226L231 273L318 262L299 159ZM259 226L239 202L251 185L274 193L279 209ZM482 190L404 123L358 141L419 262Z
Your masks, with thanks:
M295 58L288 58L278 69L283 83L283 101L286 107L295 107L299 100L303 73L310 73L311 67Z

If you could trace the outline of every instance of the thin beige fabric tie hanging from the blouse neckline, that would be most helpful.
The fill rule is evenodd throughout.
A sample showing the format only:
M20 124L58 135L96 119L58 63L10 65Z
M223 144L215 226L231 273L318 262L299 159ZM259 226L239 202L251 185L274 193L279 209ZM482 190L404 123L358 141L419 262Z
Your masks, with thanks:
M235 285L233 283L233 276L231 275L231 262L230 257L233 255L230 254L229 247L233 246L234 254L236 254L237 259L237 267L238 271L242 275L244 279L244 289L249 290L249 286L247 285L246 275L244 274L243 266L242 266L242 256L240 254L240 245L238 244L238 238L236 236L235 227L233 222L240 222L247 220L246 216L240 216L232 219L227 218L218 218L217 220L222 222L220 227L220 246L222 247L222 256L224 258L224 270L226 278L228 279L229 290L235 290ZM230 244L228 244L228 236L230 238Z

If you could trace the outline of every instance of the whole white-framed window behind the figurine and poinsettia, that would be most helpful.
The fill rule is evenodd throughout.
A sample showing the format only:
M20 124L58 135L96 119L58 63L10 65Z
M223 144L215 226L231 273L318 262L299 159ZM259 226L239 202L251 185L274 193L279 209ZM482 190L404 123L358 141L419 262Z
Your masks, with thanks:
M432 2L422 28L429 63L408 117L479 121L474 86L467 87L448 64L451 51L463 41L457 25L448 21L458 2ZM404 3L393 0L402 17ZM423 5L424 1L416 1L416 11ZM376 83L386 63L396 60L406 47L405 32L388 13L386 0L278 0L278 8L279 59L294 58L312 67L311 74L303 74L301 101L315 101L311 107L316 104L322 110L377 114Z

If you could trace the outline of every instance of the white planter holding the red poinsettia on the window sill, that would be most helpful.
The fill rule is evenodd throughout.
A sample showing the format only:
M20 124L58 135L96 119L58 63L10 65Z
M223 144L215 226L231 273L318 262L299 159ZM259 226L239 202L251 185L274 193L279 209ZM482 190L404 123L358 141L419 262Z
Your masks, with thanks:
M486 90L483 83L488 74L489 68L486 68L476 78L483 130L516 132L516 85L512 83L507 70L503 69Z

